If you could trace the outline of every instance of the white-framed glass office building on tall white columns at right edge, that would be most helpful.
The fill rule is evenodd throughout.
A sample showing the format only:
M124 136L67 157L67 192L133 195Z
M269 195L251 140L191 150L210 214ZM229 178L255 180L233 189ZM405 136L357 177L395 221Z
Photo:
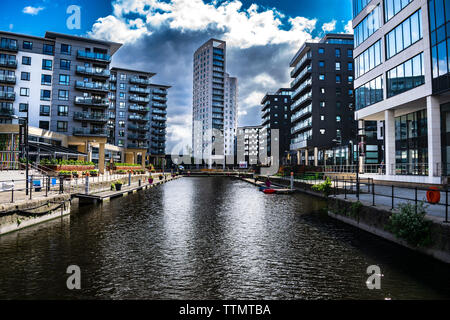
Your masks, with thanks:
M361 154L367 153L364 121L382 121L385 167L376 179L444 183L450 155L450 2L354 0L353 8Z

